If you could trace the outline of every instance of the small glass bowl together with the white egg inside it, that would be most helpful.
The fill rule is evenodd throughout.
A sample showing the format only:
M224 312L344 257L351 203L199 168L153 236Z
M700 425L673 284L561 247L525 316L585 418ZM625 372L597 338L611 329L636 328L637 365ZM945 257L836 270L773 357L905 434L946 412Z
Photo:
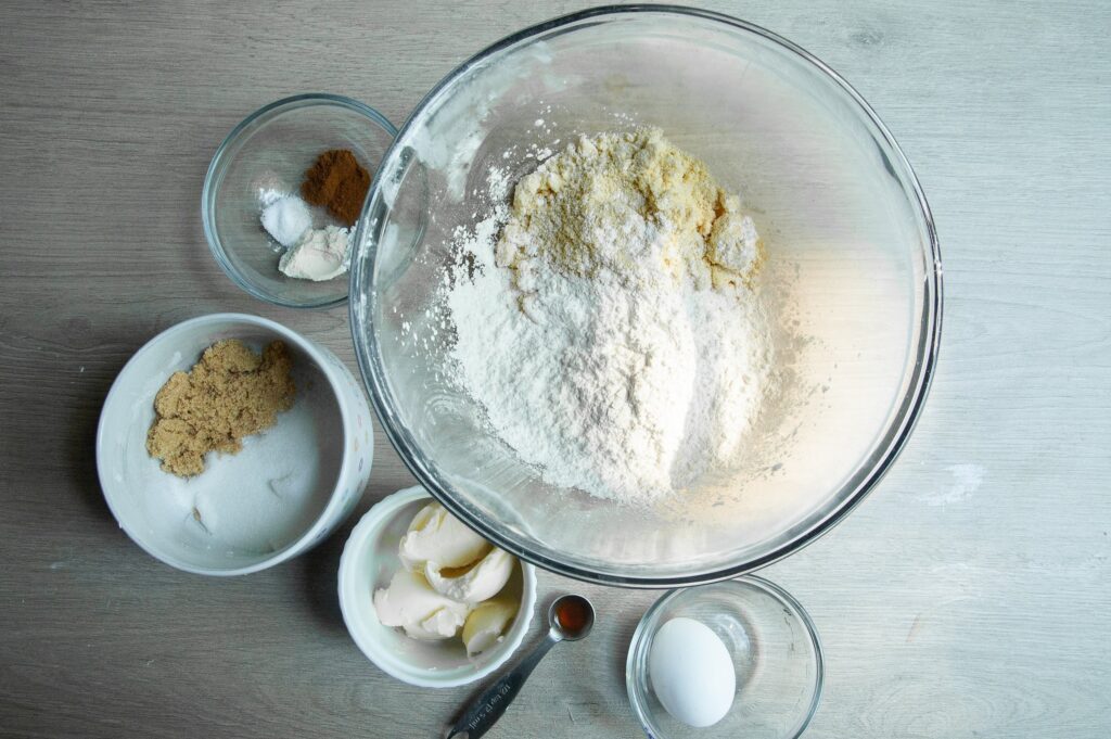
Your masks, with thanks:
M754 576L660 598L625 662L632 711L655 739L795 739L818 709L822 680L810 616Z

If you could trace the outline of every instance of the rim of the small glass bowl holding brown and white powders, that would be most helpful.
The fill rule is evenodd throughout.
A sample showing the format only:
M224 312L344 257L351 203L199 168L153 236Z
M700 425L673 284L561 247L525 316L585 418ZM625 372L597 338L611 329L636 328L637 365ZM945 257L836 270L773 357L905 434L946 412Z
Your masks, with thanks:
M266 122L267 119L274 118L279 113L286 112L287 110L300 110L302 108L314 107L343 108L364 117L373 124L386 131L391 139L396 139L398 136L397 127L393 126L393 123L391 123L386 116L378 112L367 103L360 102L353 98L348 98L341 94L332 94L330 92L303 92L300 94L289 96L262 106L231 129L231 132L229 132L228 136L224 137L223 141L220 142L220 146L217 147L216 153L212 154L212 161L209 163L208 171L204 173L204 187L201 188L201 222L204 224L204 239L208 241L209 250L212 252L212 257L216 259L217 264L220 266L223 273L227 274L231 281L239 287L239 289L243 290L253 298L270 303L271 306L309 309L336 308L337 306L342 306L347 302L351 292L351 283L350 281L348 282L348 293L340 298L322 298L309 302L299 302L296 300L279 298L256 287L231 262L231 259L228 257L228 251L224 249L223 242L217 233L213 212L216 208L217 178L222 177L223 171L230 166L229 162L231 160L227 159L228 151L239 141L243 132L253 123L260 120ZM392 141L382 152L383 160L391 148ZM378 170L374 171L374 177L377 178L377 176ZM373 181L371 181L371 189L367 190L368 198L370 197L372 189Z

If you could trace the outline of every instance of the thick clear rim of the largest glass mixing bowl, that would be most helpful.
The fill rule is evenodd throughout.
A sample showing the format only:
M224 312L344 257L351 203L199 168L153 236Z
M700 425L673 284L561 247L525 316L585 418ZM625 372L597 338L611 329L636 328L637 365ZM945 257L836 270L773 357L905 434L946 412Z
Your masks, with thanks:
M447 508L457 518L463 520L468 526L477 530L496 546L550 572L556 572L557 575L562 575L575 580L582 580L584 582L594 582L604 586L662 589L720 582L722 580L730 580L737 578L738 576L768 567L769 565L772 565L788 555L792 555L820 539L839 522L841 522L848 513L850 513L864 498L868 497L868 495L875 488L877 483L887 475L888 470L891 468L905 446L907 440L910 438L910 435L918 422L918 418L921 415L927 396L929 395L930 386L933 381L933 375L937 369L938 352L941 343L943 288L941 247L938 240L933 214L930 211L929 203L927 202L925 193L922 191L922 187L918 181L918 177L915 176L910 161L902 152L902 149L899 147L899 143L888 130L887 126L882 120L880 120L875 111L872 110L871 106L869 106L863 97L861 97L861 94L857 92L857 90L840 74L802 47L754 23L710 10L671 4L601 6L560 16L558 18L530 26L516 33L511 33L479 51L444 76L443 79L441 79L409 113L409 117L402 124L398 136L394 137L393 143L383 154L382 161L387 162L396 156L400 156L399 142L406 138L406 134L409 133L410 130L416 128L417 122L421 119L421 114L433 101L437 100L439 94L446 88L454 83L460 77L466 74L476 66L482 64L487 59L499 51L530 38L548 33L554 29L575 24L591 18L602 16L621 17L639 13L685 16L721 23L733 29L740 29L741 31L753 33L761 37L765 41L777 44L783 50L800 57L804 62L808 62L819 72L829 78L829 80L837 88L839 88L841 92L848 96L849 101L855 103L858 112L861 116L861 122L870 127L871 132L887 146L887 149L881 151L881 153L885 157L885 163L892 167L892 172L894 172L894 167L899 168L899 173L901 174L899 178L900 182L904 187L909 186L911 190L909 193L910 197L908 198L909 204L912 208L917 207L918 224L925 232L925 236L929 239L929 244L922 250L922 258L925 262L925 274L923 288L924 299L922 312L919 317L921 334L918 347L914 350L914 362L912 368L909 372L904 373L903 377L903 380L908 381L910 387L907 393L893 407L894 419L880 432L878 448L870 456L870 458L874 459L874 461L871 462L871 466L869 467L869 457L863 458L859 462L857 471L850 478L849 483L842 488L842 490L851 488L848 495L844 495L840 500L837 500L831 510L822 511L821 509L815 509L815 511L811 512L810 517L815 517L820 512L822 515L818 516L815 520L812 521L803 519L803 523L807 523L807 526L800 532L793 535L785 542L780 543L767 553L748 561L742 561L705 572L697 572L694 575L672 573L662 577L617 573L612 571L599 571L581 565L570 565L565 561L546 557L531 551L527 541L518 542L516 539L511 539L503 535L496 528L496 525L491 525L490 521L484 520L482 517L472 515L466 506L456 501L453 495L448 492L440 480L431 473L431 471L427 468L423 452L420 451L420 448L412 439L410 432L403 428L397 419L397 413L393 410L392 396L388 390L386 372L381 366L381 351L378 339L373 331L367 330L370 328L369 314L364 316L363 311L359 310L361 301L358 300L351 300L349 302L348 311L356 360L359 364L359 371L362 376L363 383L367 387L371 403L374 407L374 412L377 413L379 422L382 426L382 431L390 440L390 443L393 446L398 456L401 458L402 462L413 477L416 477L417 480L424 486L432 497L439 500L444 508ZM892 164L889 160L893 160L894 164ZM379 173L381 173L382 169L384 168L379 169ZM371 276L373 274L378 257L377 242L371 244L366 250L368 252L366 257L363 257L360 252L363 251L366 242L363 228L369 220L369 213L374 204L374 201L382 197L380 192L380 184L381 180L376 174L374 181L371 183L370 191L367 194L367 200L363 202L362 216L359 219L359 227L356 231L354 248L357 249L357 252L351 260L352 290L357 284L359 284L363 270L369 270L369 273ZM371 298L369 302L372 304L373 299ZM369 313L369 311L366 312ZM360 333L366 337L366 350L362 343L360 343Z

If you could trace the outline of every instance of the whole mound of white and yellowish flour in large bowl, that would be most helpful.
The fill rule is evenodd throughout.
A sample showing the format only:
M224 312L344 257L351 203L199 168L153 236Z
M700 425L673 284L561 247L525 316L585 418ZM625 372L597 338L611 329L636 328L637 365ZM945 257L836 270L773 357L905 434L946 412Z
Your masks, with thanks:
M735 468L772 361L737 198L658 131L580 139L529 177L510 210L492 171L498 204L457 233L472 261L444 289L458 383L554 486L651 502Z

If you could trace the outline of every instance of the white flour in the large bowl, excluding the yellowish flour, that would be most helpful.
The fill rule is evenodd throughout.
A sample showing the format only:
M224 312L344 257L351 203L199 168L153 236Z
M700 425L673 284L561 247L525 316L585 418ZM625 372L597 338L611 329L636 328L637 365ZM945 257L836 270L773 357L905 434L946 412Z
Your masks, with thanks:
M592 177L597 161L578 162L571 176ZM504 194L493 172L491 196ZM536 212L520 218L520 186L517 196L512 213L499 204L473 234L457 234L472 277L457 270L447 296L457 379L501 439L547 482L622 502L652 501L735 467L770 376L758 293L677 273L669 257L691 234L667 213L645 217L643 198L630 191L605 192L598 208L587 198L575 228L589 232L592 267L567 269L544 258L544 244L530 246L549 234L534 227ZM641 209L621 204L630 202ZM499 266L507 221L523 254L512 269Z

